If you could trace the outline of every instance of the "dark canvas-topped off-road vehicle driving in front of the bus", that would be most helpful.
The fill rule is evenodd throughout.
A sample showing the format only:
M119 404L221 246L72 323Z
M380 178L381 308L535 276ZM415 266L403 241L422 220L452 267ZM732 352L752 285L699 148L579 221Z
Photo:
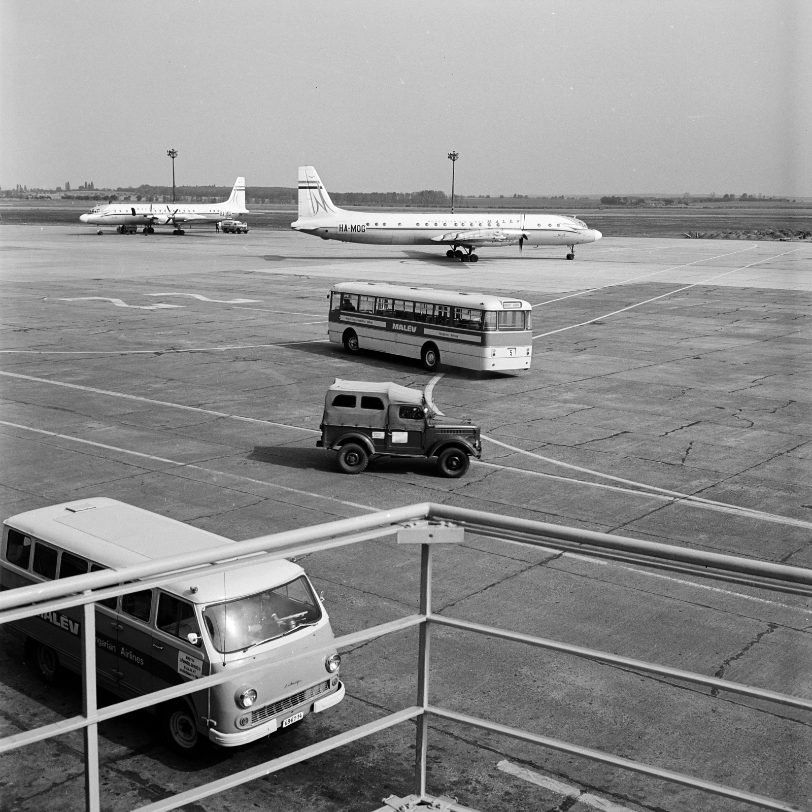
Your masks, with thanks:
M420 390L397 383L336 378L321 429L317 447L337 451L344 473L361 473L372 456L425 456L443 477L461 477L482 453L478 425L438 414Z

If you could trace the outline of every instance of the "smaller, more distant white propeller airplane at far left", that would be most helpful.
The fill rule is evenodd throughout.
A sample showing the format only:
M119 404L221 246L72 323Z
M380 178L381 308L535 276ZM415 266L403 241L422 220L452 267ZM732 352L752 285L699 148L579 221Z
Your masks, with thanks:
M115 226L119 234L135 234L139 226L145 234L154 234L155 226L175 227L173 234L184 234L184 226L196 222L220 222L237 214L249 214L245 208L245 179L237 178L231 197L222 203L108 203L97 205L81 222L98 226Z

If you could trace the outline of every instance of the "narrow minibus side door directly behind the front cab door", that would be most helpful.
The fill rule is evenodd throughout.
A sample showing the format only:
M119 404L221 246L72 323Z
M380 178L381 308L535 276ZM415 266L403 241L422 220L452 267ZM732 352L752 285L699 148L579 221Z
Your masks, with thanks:
M131 592L121 596L119 610L119 663L116 676L119 690L127 696L138 696L152 690L152 614L153 590Z

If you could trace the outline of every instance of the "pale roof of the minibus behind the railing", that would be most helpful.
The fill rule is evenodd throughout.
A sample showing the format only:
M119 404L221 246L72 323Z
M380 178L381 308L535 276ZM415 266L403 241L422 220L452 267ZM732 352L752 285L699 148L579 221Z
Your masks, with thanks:
M18 513L4 524L110 569L239 543L105 497ZM235 550L235 558L238 556L239 548ZM270 589L304 572L298 564L284 559L272 562L251 559L252 556L246 556L244 569L225 575L222 572L209 575L203 565L198 572L184 573L183 581L166 584L164 588L184 594L194 603L209 603L222 601L224 594L230 599ZM190 585L197 586L195 594L189 593Z

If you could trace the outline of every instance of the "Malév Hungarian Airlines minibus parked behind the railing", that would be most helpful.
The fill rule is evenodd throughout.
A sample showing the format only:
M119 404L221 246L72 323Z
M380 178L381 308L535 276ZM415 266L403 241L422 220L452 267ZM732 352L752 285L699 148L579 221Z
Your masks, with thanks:
M0 585L120 569L233 544L230 539L115 499L84 499L19 513L3 523ZM48 683L81 672L82 607L9 623ZM191 754L207 739L231 747L290 728L340 702L330 620L304 570L279 560L228 572L206 568L174 583L96 603L97 682L132 698L257 660L266 668L155 710L169 744ZM280 655L312 656L278 664Z

